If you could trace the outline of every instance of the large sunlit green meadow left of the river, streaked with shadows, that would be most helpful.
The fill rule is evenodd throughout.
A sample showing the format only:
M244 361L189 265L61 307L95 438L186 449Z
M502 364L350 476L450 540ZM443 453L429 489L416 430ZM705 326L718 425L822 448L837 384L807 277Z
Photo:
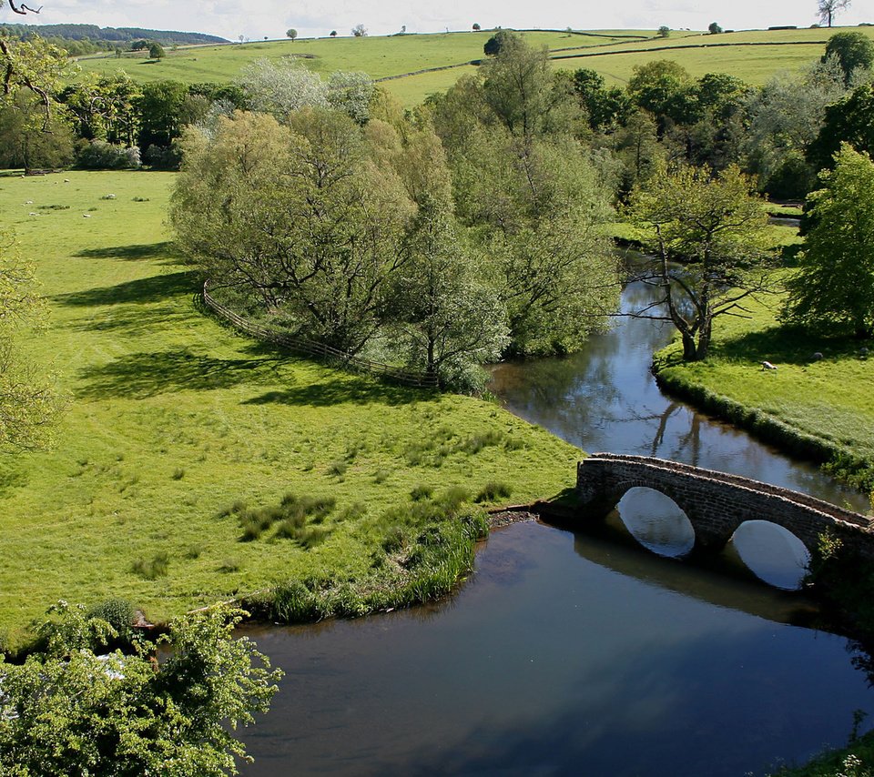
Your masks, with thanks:
M163 621L284 580L373 580L419 530L413 492L491 483L509 503L573 484L580 451L493 404L322 367L205 316L164 223L172 184L0 176L0 227L51 302L32 355L70 397L56 449L0 457L8 643L60 598ZM307 500L323 507L301 526ZM282 520L253 537L261 508Z

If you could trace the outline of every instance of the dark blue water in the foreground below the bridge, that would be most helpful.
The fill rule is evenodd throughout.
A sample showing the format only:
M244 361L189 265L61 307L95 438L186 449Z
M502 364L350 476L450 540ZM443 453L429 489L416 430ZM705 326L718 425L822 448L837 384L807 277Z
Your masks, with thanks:
M762 774L869 711L804 600L609 538L493 534L451 606L257 633L287 676L249 777ZM330 639L325 639L325 634Z

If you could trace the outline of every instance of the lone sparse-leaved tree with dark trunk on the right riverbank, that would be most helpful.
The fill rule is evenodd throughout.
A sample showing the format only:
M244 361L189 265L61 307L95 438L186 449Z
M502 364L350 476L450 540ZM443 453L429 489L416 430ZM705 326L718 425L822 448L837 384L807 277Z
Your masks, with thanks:
M674 324L683 358L706 358L717 316L743 316L743 300L767 289L767 212L736 166L663 171L635 188L627 215L654 253L641 278L664 297L640 318ZM671 262L683 260L676 271Z

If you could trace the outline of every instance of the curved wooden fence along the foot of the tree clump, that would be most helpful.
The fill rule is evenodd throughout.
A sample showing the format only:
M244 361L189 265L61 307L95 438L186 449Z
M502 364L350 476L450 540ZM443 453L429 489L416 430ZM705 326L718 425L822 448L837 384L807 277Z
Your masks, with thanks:
M402 386L413 386L420 389L436 389L438 387L438 379L436 375L430 375L425 372L413 372L409 369L401 369L399 367L391 367L388 364L382 364L379 361L371 361L369 358L361 358L354 356L346 351L331 348L324 343L316 342L307 338L300 338L290 335L287 332L280 331L277 328L265 327L261 324L256 324L242 316L239 316L233 310L225 308L215 298L209 294L209 281L204 283L201 298L204 305L212 310L219 318L227 321L234 328L251 335L253 338L267 340L271 343L276 343L283 348L288 348L295 353L304 354L319 358L322 361L330 362L333 366L338 366L344 369L357 370L367 372L371 375L376 375L379 378L390 380L392 383L400 383Z

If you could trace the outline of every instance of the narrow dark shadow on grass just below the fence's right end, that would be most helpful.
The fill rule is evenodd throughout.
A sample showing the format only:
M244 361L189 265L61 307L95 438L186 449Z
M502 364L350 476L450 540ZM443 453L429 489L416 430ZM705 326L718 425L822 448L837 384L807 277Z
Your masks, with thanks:
M358 405L378 403L381 405L405 405L418 400L432 399L432 391L405 389L391 386L372 378L341 376L319 383L308 383L280 391L268 391L260 397L246 399L243 405L309 405L328 408L332 405L354 402Z

